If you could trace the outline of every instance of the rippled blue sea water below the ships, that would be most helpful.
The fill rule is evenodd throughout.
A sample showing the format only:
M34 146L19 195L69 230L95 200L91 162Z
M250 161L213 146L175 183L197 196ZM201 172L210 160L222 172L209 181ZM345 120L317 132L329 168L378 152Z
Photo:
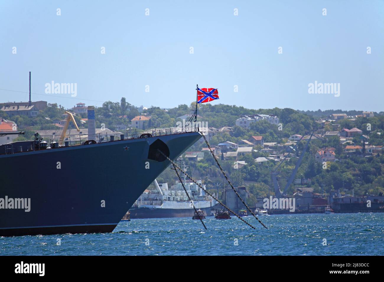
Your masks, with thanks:
M0 237L0 255L383 255L384 213L121 221L113 233ZM56 243L61 239L61 245ZM326 246L323 246L326 239ZM236 244L236 242L238 244Z

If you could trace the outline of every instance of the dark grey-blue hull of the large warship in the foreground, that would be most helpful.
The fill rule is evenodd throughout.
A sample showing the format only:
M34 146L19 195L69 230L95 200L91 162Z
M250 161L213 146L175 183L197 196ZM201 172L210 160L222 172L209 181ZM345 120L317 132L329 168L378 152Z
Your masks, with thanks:
M0 209L0 236L112 232L170 165L148 159L149 146L160 139L174 160L200 137L190 132L1 155L0 198L30 198L30 211Z

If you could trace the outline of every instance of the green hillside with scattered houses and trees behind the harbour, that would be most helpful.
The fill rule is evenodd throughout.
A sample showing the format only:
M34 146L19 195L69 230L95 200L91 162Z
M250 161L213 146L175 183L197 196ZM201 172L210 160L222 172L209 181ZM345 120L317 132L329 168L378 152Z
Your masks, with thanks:
M106 102L103 107L95 109L96 142L106 141L111 136L128 135L132 130L137 134L153 128L169 128L180 120L185 123L192 116L192 104L174 109L147 109L134 107L124 98L120 103ZM210 107L210 110L217 108L220 112L220 107L224 106L205 107ZM233 106L225 107L234 109ZM0 136L0 145L26 140L34 132L44 140L57 140L68 121L65 110L71 112L79 126L79 130L73 125L66 129L65 141L87 140L88 106L83 102L70 109L46 101L5 102L0 104L0 132L25 131L26 136ZM382 112L313 117L291 109L255 111L235 108L234 111L232 120L223 124L217 117L208 117L203 106L197 119L214 125L204 128L207 141L250 206L262 208L263 199L274 194L270 173L283 162L284 176L280 181L286 182L309 140L311 143L305 152L304 163L298 169L288 194L288 197L296 199L296 212L319 212L328 205L332 205L336 212L343 212L345 206L341 203L356 204L349 206L348 211L364 211L363 203L367 199L374 203L375 211L381 211L384 201ZM212 160L204 139L180 157L192 175L202 179L216 195L224 197L230 208L239 209L239 203L231 196L232 190L225 187L218 169L211 166ZM159 178L162 182L175 181L168 170ZM151 186L148 191L151 191Z

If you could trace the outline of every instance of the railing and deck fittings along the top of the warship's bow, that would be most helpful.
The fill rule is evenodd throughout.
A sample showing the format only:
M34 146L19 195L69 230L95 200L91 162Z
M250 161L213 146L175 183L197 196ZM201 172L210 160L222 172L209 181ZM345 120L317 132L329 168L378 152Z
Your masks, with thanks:
M143 134L150 134L150 135L144 135L144 137L158 137L158 136L165 136L165 135L174 135L174 134L184 134L184 133L191 133L191 132L199 132L200 129L198 127L168 127L168 128L154 128L154 129L147 129L147 130L141 130L141 129L127 129L125 130L125 133L123 134L120 131L112 131L112 132L102 132L102 133L96 133L94 136L92 135L71 135L66 136L66 138L63 141L63 144L68 142L68 146L66 145L60 145L58 148L64 148L64 147L72 147L72 146L80 146L83 145L85 141L88 140L94 140L97 143L106 143L106 142L116 142L121 140L131 140L131 139L140 139ZM38 131L37 131L38 132ZM51 145L53 142L59 142L60 137L57 138L51 138L48 140L43 139L42 141L47 141L49 145ZM41 141L41 140L40 140ZM40 141L33 141L31 142L40 142ZM15 146L13 146L15 144ZM37 144L37 143L36 143ZM3 147L0 150L0 155L8 155L13 153L19 153L17 141L16 142L10 142L6 143L4 145L0 145L0 148ZM55 149L55 148L54 148ZM40 149L33 148L32 151L37 151ZM43 149L45 150L45 148ZM28 152L23 150L22 152Z

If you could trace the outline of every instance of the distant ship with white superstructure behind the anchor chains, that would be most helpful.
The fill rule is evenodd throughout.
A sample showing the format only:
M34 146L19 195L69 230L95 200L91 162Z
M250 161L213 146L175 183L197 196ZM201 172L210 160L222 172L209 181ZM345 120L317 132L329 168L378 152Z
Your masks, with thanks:
M201 185L201 180L197 183ZM168 188L168 183L157 183L154 180L156 190L145 190L137 199L131 209L130 218L179 218L192 217L195 210L190 203L181 183L176 183ZM186 182L184 186L196 209L204 211L209 215L212 208L217 204L209 195L206 195L198 185ZM203 185L205 188L205 185Z

